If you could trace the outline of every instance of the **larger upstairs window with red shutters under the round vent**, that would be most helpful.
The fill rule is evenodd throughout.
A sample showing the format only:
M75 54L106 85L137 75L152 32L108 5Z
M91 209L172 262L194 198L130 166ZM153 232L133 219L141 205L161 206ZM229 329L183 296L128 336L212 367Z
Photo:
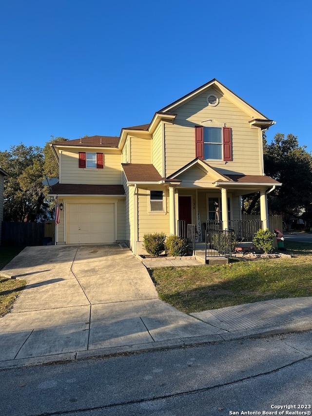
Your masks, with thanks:
M233 160L231 127L196 126L195 152L202 160Z

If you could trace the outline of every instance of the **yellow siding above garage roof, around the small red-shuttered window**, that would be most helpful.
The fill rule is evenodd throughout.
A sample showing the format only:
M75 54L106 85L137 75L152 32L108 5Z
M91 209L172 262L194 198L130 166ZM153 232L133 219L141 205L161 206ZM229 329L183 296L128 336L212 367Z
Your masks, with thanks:
M90 149L80 151L91 152ZM60 158L59 182L89 185L121 184L121 154L107 149L103 149L102 153L104 154L103 169L81 169L78 167L78 152L63 151Z

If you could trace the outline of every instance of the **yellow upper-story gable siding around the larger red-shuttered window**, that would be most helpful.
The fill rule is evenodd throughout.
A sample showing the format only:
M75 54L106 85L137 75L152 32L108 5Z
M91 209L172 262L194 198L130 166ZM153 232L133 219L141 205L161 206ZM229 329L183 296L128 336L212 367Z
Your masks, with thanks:
M219 97L216 107L207 105L206 98L209 93ZM248 123L253 118L252 113L246 114L214 90L190 100L177 108L175 113L177 116L174 124L165 125L166 176L195 158L194 127L210 119L232 128L233 161L208 163L224 174L262 174L262 139L259 138L259 129L251 128ZM177 148L179 152L176 151Z

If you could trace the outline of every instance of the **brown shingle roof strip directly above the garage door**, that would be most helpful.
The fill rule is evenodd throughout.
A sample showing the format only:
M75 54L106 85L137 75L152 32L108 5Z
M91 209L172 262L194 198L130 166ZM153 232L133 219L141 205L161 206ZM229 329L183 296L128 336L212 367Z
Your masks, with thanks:
M49 195L124 195L124 193L122 185L57 183L51 187Z

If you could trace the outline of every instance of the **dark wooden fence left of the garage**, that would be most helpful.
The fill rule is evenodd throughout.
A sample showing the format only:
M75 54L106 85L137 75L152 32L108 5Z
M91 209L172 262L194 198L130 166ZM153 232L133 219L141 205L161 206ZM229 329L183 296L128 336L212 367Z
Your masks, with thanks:
M54 221L2 221L1 244L4 246L38 246L53 240Z

